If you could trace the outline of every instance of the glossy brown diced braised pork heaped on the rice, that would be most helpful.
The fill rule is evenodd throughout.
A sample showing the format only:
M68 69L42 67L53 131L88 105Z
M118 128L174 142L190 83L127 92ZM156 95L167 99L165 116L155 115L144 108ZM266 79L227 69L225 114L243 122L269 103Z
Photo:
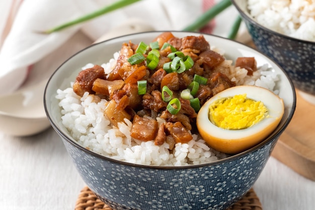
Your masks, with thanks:
M138 47L130 41L122 44L116 66L108 75L98 65L83 70L78 74L73 90L80 96L88 91L107 99L104 114L114 126L124 122L124 119L130 120L132 138L141 141L152 140L155 145L166 142L172 150L176 143L187 143L193 139L191 131L195 129L198 110L191 106L190 98L182 98L181 93L189 89L194 76L203 76L206 81L199 84L194 96L191 95L199 99L200 106L218 92L235 86L235 82L218 70L223 66L225 58L212 51L202 35L178 38L170 32L165 32L153 41L157 41L160 46L160 59L155 68L148 68L145 60L134 65L128 62ZM168 45L161 49L165 43ZM183 72L166 71L164 64L172 61L168 55L173 53L174 49L182 52L185 58L189 56L193 65ZM147 51L149 50L151 49L148 48ZM145 58L148 56L147 51L143 53ZM254 58L239 58L236 66L248 69L249 75L257 70ZM138 92L139 80L146 81L144 94ZM171 92L163 93L164 86ZM178 112L171 114L168 109L169 99L166 100L166 96L178 98Z

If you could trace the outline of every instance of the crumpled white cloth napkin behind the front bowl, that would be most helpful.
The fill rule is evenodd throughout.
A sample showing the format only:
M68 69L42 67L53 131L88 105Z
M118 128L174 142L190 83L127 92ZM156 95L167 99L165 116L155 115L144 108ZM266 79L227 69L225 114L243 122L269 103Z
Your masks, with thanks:
M81 30L92 42L130 20L153 30L182 30L220 0L142 0L92 21L44 35L47 30L93 12L115 0L6 0L0 2L0 96L17 91L32 65ZM231 6L203 30L226 36L237 11ZM45 71L45 69L43 69Z

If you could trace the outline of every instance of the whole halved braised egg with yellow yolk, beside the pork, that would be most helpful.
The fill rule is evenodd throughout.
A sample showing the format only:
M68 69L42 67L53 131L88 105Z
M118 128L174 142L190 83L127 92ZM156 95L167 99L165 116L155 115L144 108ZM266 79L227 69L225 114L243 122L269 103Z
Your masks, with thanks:
M203 104L197 128L210 147L235 154L268 137L283 113L283 100L272 91L258 86L234 86Z

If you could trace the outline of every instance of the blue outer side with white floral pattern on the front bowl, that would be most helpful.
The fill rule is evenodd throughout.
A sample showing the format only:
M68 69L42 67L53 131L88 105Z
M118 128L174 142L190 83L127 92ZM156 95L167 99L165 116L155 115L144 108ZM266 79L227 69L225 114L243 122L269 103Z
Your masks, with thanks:
M225 209L253 186L275 142L224 162L166 169L111 161L63 139L87 185L117 210Z

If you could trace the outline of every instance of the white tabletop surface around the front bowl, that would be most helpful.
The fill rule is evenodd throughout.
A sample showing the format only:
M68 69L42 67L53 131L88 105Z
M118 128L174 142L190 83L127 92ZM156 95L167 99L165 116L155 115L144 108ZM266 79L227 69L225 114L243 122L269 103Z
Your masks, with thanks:
M56 61L61 63L69 54L91 44L82 34L72 40L77 39L80 44L73 49L54 53L38 66L52 63L51 59L57 65ZM0 142L0 209L74 209L85 183L52 128L30 137L0 133ZM315 182L274 158L267 162L254 190L265 210L315 209Z

